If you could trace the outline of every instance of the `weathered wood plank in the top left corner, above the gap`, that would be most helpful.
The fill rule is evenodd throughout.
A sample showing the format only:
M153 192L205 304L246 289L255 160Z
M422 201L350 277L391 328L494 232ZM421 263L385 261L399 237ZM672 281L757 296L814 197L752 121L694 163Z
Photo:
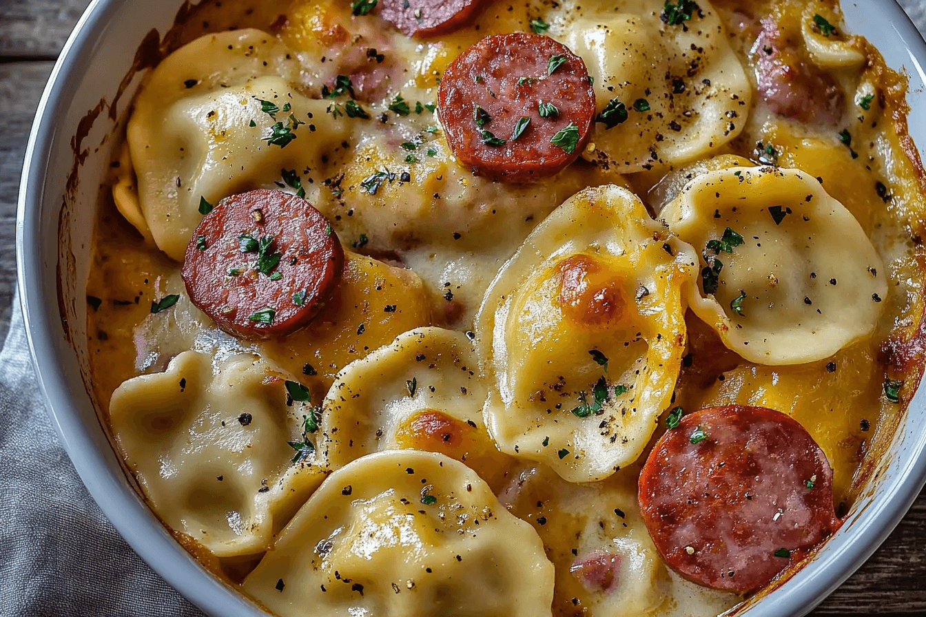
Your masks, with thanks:
M0 0L0 56L50 59L90 0Z

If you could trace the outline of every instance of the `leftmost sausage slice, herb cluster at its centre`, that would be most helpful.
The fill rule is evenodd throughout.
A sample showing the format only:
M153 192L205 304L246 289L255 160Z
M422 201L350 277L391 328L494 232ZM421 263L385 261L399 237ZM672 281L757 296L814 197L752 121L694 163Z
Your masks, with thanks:
M341 278L337 235L306 200L249 191L219 202L186 247L190 299L226 332L280 337L307 323Z

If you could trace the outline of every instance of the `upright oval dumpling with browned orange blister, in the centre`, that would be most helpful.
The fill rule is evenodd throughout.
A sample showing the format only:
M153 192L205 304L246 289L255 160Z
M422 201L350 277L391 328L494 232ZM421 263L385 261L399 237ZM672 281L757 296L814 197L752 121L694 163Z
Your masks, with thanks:
M572 482L632 463L669 405L697 257L617 186L580 191L536 228L477 316L500 449Z

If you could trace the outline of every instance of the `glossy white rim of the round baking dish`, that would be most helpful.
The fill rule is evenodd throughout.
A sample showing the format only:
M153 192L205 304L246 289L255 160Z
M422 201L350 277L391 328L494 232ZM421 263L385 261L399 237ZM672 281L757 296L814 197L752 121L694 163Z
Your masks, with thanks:
M131 487L126 489L121 468L114 470L106 463L106 453L96 448L91 430L74 411L71 383L58 360L60 324L56 324L56 308L48 308L48 302L44 302L47 274L41 261L44 241L41 221L44 181L56 136L56 118L68 105L69 91L76 88L71 77L86 73L91 65L89 52L100 34L106 30L110 19L132 1L92 0L58 56L39 101L24 158L16 219L17 289L26 338L36 380L57 436L94 501L131 549L200 610L216 617L266 617L267 613L209 574L182 549ZM923 69L926 67L926 43L896 0L887 3L842 1L856 6L870 5L882 11L894 30L897 44L907 52L912 68L926 81ZM926 144L921 145L926 147ZM56 302L53 306L56 307ZM79 387L85 391L82 382ZM909 408L914 405L926 407L926 385L920 385ZM740 614L765 617L807 614L882 545L926 485L926 431L911 434L910 428L905 430L903 425L897 431L892 450L898 446L901 433L905 438L915 438L910 444L909 462L895 477L883 481L884 490L879 495L857 510L852 533L833 537L825 554L818 554L782 587Z

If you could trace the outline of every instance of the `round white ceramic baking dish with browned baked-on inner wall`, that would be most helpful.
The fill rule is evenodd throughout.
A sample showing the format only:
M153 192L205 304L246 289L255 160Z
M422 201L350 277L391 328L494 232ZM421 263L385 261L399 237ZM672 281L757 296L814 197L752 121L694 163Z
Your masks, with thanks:
M181 5L186 6L183 0L94 0L71 34L39 104L23 168L19 297L58 435L103 512L144 561L203 611L253 617L266 613L208 574L132 489L84 387L85 283L97 196L109 161L107 136L129 105L138 77L124 84L121 96L117 93L145 35L153 28L168 31ZM926 117L926 44L893 1L845 0L843 8L848 30L868 37L890 67L909 76L910 133L921 148L926 145L926 122L920 121ZM98 114L90 122L85 118L94 109ZM847 523L807 567L745 612L803 615L868 559L926 481L923 426L926 390L920 388Z

